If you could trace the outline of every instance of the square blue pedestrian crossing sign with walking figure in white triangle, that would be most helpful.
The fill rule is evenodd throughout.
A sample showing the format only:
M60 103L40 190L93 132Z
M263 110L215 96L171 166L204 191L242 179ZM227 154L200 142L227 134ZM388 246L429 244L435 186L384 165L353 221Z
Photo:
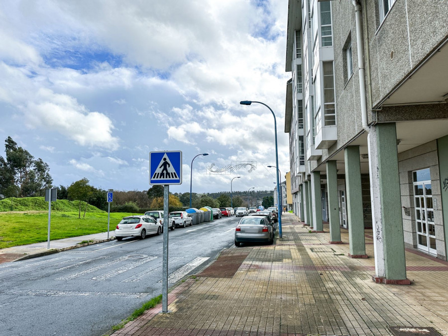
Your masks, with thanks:
M182 152L150 152L149 184L182 184Z

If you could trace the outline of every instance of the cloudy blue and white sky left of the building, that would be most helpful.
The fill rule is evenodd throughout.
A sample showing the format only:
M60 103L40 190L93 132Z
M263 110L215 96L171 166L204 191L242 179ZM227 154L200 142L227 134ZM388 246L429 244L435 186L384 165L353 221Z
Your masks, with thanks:
M151 151L183 153L171 192L271 190L284 133L287 0L0 1L4 139L50 165L54 185L147 190ZM257 168L208 174L232 162ZM284 178L282 178L283 180Z

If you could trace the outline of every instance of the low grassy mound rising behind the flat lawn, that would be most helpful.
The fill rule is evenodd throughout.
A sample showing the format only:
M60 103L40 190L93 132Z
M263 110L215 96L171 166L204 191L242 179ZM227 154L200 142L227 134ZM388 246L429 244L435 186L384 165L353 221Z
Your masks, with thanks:
M81 202L81 212L84 212L86 202ZM24 198L5 198L0 200L0 212L5 211L48 211L48 202L43 197L24 197ZM51 202L52 211L78 212L79 201L57 200ZM103 213L104 211L97 207L89 205L87 207L89 213Z

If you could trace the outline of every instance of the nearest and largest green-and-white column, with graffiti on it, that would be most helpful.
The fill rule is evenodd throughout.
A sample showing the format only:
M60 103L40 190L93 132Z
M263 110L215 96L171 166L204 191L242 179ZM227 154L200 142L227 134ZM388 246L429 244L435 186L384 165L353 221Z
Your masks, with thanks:
M369 156L372 157L372 162L377 161L377 169L373 170L371 179L374 182L375 191L379 190L379 193L375 195L375 200L372 201L372 207L375 207L376 224L373 241L376 244L375 251L380 258L378 276L374 277L374 280L387 284L410 284L410 281L406 279L397 131L394 122L380 123L372 128L369 139ZM384 261L381 260L381 249ZM382 271L379 264L381 262L384 262L385 279L379 279ZM376 266L375 263L375 270Z

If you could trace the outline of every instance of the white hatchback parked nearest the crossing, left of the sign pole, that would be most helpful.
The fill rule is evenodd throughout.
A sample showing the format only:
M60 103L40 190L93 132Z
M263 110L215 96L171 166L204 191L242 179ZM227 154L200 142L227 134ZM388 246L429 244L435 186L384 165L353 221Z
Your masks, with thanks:
M144 239L147 234L161 234L162 225L151 216L128 216L116 225L115 238L121 240L125 237L140 237Z

